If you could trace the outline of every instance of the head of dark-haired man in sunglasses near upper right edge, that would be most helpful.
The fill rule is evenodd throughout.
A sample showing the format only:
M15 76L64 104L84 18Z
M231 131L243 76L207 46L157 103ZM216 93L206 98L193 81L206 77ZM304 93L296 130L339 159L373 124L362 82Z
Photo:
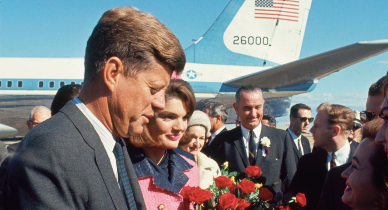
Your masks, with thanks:
M368 99L366 101L365 111L360 112L362 123L369 122L379 116L381 105L383 105L384 93L383 84L384 77L381 77L376 83L373 83L368 91Z

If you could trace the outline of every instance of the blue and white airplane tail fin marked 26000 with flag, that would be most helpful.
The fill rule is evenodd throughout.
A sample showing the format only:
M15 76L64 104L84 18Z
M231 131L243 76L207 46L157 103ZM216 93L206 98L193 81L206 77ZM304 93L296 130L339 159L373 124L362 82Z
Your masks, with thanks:
M299 59L312 0L231 0L187 62L275 66Z

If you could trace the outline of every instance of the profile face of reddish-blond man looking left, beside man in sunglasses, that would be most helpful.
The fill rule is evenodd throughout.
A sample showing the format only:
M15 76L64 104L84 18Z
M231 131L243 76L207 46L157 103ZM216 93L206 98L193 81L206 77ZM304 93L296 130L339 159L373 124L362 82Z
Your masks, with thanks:
M313 134L314 147L329 145L331 142L331 127L329 126L329 115L326 112L318 112L314 119L314 125L310 132Z

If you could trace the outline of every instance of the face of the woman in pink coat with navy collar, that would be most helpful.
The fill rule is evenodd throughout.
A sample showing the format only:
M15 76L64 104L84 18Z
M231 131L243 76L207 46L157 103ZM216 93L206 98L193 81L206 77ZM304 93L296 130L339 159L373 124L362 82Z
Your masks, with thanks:
M175 149L187 129L187 111L177 98L166 100L165 109L157 111L147 124L152 139L161 149Z

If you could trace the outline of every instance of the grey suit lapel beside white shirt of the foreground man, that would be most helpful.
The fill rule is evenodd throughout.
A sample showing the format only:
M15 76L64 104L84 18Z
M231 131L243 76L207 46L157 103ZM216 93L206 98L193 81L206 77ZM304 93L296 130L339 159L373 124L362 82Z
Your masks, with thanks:
M104 145L102 145L102 142L100 141L100 137L95 132L95 129L90 121L71 101L68 102L64 108L62 108L61 112L69 117L74 126L76 126L82 135L85 142L94 150L95 163L97 164L102 179L105 182L105 186L116 209L126 209L126 201L118 186L116 177L114 176L109 157L106 153Z

